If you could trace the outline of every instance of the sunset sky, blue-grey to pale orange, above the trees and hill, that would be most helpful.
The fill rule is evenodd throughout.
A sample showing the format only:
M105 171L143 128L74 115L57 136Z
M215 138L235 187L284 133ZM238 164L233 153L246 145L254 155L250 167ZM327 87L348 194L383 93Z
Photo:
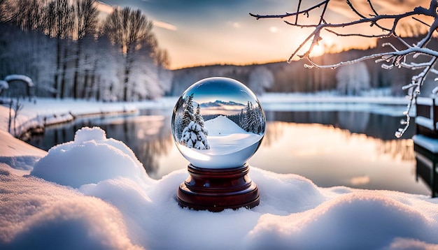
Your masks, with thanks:
M171 68L209 64L253 64L285 61L297 45L310 34L283 20L256 20L249 13L272 15L292 13L298 0L101 0L100 10L108 6L129 6L140 9L155 24L154 33L160 47L169 52ZM317 0L306 0L309 8ZM363 13L371 13L367 1L352 1ZM376 0L379 13L402 13L415 6L428 6L428 0ZM105 6L105 4L107 6ZM316 10L315 17L320 15ZM330 2L327 19L331 22L351 20L351 10L344 1ZM304 18L305 19L305 18ZM367 27L365 27L366 29ZM341 39L325 34L326 47L337 50L347 47L369 47L372 41ZM322 47L319 50L323 50ZM316 53L321 53L318 51Z

